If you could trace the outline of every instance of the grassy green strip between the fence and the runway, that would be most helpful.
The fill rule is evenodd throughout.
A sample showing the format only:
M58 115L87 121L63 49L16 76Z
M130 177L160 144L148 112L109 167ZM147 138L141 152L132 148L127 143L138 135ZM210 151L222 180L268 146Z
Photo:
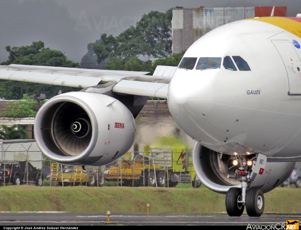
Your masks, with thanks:
M299 189L277 188L265 194L265 213L301 213ZM76 213L222 213L225 195L200 189L130 187L0 188L0 211L66 211Z

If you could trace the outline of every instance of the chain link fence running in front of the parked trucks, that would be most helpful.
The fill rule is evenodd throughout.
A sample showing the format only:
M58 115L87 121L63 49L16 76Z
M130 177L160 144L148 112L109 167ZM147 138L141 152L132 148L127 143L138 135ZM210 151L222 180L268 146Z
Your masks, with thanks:
M132 152L100 167L57 164L43 157L34 140L0 141L0 152L0 186L175 187L195 180L184 152Z

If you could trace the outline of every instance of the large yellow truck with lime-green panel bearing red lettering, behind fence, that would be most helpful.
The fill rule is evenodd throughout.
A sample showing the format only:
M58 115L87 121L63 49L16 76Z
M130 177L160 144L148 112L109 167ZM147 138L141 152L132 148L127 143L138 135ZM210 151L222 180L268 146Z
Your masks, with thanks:
M123 186L175 187L182 182L200 187L189 153L156 148L147 153L144 160L143 155L136 155L132 161L123 160L105 170L105 180L118 180Z

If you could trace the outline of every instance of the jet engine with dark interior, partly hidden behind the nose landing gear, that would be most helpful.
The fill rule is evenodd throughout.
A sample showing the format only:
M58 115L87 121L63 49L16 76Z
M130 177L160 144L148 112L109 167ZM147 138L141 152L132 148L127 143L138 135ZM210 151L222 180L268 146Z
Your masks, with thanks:
M267 162L262 174L253 173L252 169L256 164L256 154L233 156L222 155L202 146L196 142L193 150L194 170L200 181L208 189L214 192L226 194L231 187L241 188L241 183L235 178L235 172L242 172L233 161L240 161L240 165L249 165L247 170L250 173L252 187L258 187L266 193L281 185L292 173L295 162ZM235 163L235 162L234 162ZM248 176L248 175L247 175Z

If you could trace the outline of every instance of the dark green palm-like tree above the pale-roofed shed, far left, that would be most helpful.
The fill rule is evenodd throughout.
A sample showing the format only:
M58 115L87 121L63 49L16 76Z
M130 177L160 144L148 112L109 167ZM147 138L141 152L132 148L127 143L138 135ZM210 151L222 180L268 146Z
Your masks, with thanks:
M12 126L7 126L2 124L0 126L0 139L2 140L13 140L13 139L27 139L28 133L26 130L22 129L20 125L14 124Z

